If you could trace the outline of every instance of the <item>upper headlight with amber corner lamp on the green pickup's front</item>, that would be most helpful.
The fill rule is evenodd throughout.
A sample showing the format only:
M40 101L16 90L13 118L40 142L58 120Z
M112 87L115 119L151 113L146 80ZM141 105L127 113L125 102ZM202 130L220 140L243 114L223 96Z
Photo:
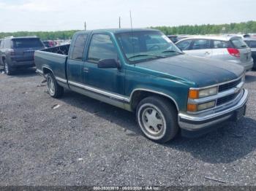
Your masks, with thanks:
M204 98L218 93L218 87L210 87L202 90L189 90L189 98Z

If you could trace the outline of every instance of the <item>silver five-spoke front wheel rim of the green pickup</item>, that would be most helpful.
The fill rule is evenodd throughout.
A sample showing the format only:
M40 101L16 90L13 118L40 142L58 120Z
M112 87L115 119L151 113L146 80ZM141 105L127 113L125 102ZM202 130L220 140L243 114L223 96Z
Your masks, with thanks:
M165 136L166 121L161 110L153 104L143 104L138 112L138 121L143 133L151 139Z

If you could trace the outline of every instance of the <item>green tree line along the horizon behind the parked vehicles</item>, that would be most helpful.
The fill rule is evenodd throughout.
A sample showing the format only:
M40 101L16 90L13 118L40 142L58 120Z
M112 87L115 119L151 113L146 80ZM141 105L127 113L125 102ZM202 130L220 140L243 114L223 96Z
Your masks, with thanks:
M256 21L243 23L230 23L222 25L195 25L195 26L157 26L151 27L162 31L165 34L235 34L235 33L256 33ZM72 31L20 31L13 33L1 33L0 39L6 36L38 36L42 40L48 39L72 39Z

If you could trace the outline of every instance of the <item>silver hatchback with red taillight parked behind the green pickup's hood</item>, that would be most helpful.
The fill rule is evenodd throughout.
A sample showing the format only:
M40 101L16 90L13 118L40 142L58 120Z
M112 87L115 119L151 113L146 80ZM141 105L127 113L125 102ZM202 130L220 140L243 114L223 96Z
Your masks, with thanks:
M177 47L189 55L214 58L244 66L252 70L251 49L238 36L196 36L182 39Z

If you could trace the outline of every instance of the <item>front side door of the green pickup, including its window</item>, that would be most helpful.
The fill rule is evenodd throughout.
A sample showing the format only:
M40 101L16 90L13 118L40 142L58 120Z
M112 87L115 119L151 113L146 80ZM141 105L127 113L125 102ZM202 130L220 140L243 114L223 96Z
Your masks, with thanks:
M102 59L118 61L116 44L109 34L92 34L83 66L84 83L99 90L124 95L124 69L99 69L98 63Z

